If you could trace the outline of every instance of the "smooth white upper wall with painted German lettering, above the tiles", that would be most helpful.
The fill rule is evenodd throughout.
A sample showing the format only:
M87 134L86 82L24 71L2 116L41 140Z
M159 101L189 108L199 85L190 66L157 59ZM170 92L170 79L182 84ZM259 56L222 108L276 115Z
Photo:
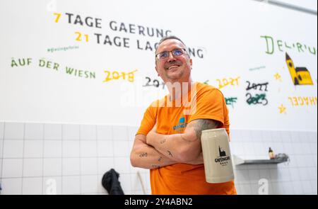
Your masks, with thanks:
M156 6L151 1L139 2L1 1L4 33L0 34L0 120L139 125L146 106L167 93L161 86L143 87L146 77L161 81L154 70L154 52L144 50L147 42L153 47L160 37L139 35L141 26L171 30L189 47L201 50L199 55L203 58L198 54L193 57L193 79L208 80L226 98L237 98L229 105L232 128L317 130L317 52L312 55L308 48L317 50L317 16L251 0L200 4L162 1ZM175 13L163 12L166 5L178 8L181 16L176 20ZM54 12L61 13L57 23ZM82 19L100 18L101 28L74 25L75 16L69 23L65 13L81 15ZM124 23L127 30L133 24L134 33L111 30L111 21L117 22L117 28ZM83 41L76 41L76 32L83 33ZM128 38L129 47L98 44L94 33L109 35L111 39ZM89 37L87 43L85 34ZM266 53L266 39L261 38L265 35L273 38L271 55ZM137 41L143 50L138 49ZM303 52L299 52L298 43ZM281 50L278 45L282 45ZM48 51L69 46L75 48ZM312 85L293 84L285 52L296 67L308 69ZM16 62L19 58L32 61L30 65L12 67L12 58ZM42 58L52 61L51 69L39 67ZM53 69L54 62L59 64L58 70ZM66 67L94 72L95 79L66 74ZM121 74L135 69L138 71L133 82L127 76L103 82L107 77L105 71ZM276 74L281 79L276 79ZM219 86L236 78L237 82ZM247 91L247 81L268 82L268 89ZM265 100L259 100L263 104L248 104L249 94L265 94L268 104L263 105ZM313 100L302 103L302 98ZM282 113L281 106L285 108Z

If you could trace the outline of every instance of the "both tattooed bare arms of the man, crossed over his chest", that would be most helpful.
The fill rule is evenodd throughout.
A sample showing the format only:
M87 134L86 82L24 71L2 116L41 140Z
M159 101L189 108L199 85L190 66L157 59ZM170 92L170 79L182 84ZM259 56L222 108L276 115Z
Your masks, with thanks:
M211 119L192 120L184 133L162 135L156 127L145 135L136 135L131 151L131 165L143 169L156 169L177 163L203 164L201 132L218 128L219 122Z

